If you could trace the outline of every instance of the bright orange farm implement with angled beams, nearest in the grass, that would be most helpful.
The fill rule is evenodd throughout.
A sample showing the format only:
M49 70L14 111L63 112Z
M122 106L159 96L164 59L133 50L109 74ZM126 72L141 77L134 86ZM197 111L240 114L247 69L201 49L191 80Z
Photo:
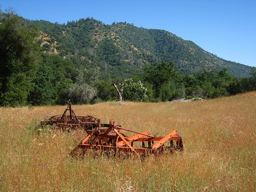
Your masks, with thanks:
M172 153L174 150L184 149L182 138L176 130L173 130L164 137L159 137L150 135L148 130L137 132L116 126L115 122L111 121L109 124L102 124L100 122L95 126L96 128L92 130L86 130L88 136L70 153L71 155L83 155L88 149L142 155L160 154L166 150ZM121 131L134 133L135 135L129 137Z

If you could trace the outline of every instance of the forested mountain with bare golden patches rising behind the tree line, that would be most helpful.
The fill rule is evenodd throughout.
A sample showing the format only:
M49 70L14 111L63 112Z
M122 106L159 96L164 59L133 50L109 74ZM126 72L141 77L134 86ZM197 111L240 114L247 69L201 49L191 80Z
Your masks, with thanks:
M227 68L233 76L248 77L252 69L219 58L165 30L138 28L126 22L105 25L93 18L66 24L24 22L41 31L41 51L72 61L79 70L96 69L104 78L138 75L144 66L161 60L174 61L182 75Z

